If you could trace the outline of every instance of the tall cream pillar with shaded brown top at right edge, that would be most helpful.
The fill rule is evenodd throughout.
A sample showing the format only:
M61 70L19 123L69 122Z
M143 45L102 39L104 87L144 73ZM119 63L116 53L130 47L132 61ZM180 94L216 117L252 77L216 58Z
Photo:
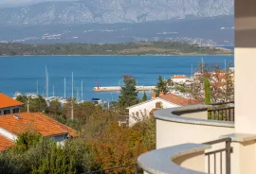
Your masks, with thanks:
M256 133L256 1L235 0L235 129Z

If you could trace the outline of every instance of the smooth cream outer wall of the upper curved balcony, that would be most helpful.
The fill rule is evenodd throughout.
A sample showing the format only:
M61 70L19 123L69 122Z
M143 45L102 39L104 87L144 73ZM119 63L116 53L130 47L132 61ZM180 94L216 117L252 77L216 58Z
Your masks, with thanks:
M205 143L221 135L234 133L234 128L185 124L156 120L156 148L166 148L185 143Z

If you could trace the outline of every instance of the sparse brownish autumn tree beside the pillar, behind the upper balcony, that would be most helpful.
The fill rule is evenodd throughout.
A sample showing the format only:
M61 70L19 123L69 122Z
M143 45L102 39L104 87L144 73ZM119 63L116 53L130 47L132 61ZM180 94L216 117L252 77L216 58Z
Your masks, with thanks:
M229 67L230 65L231 63L229 62ZM205 81L209 81L210 83L209 84L207 82L207 91L205 91ZM207 63L198 63L198 68L195 70L193 82L189 88L191 96L202 103L204 103L206 99L208 102L210 101L210 103L233 101L234 72L230 68L221 70L218 64L209 65ZM206 96L210 96L210 99L206 98Z

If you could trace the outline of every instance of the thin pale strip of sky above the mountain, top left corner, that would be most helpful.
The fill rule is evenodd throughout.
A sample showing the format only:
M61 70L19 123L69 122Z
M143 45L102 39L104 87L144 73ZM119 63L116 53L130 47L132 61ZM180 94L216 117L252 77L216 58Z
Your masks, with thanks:
M6 7L17 7L23 5L36 4L39 2L48 2L48 1L62 1L62 0L0 0L0 8ZM65 0L71 1L71 0Z

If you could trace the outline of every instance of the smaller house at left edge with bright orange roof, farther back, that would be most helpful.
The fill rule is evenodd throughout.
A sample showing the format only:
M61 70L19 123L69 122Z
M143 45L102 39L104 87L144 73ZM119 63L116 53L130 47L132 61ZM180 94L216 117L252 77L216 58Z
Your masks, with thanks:
M24 103L0 93L0 115L9 113L20 113Z

